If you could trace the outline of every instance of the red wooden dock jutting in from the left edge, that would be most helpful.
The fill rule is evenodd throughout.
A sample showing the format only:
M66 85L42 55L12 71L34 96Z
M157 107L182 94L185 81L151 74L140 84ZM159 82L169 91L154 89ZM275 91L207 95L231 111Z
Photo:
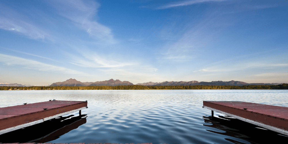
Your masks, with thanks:
M86 109L87 101L46 101L0 108L0 134Z

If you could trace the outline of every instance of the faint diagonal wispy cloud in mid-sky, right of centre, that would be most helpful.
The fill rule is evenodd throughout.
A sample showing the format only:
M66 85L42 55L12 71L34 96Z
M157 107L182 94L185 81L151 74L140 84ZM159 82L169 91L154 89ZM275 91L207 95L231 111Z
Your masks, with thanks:
M164 59L178 62L187 62L197 57L199 51L203 51L214 39L217 38L221 28L218 25L229 25L230 23L219 23L221 16L211 14L199 23L187 26L186 32L173 44L164 46L162 56ZM169 29L167 30L169 31ZM168 49L167 49L168 48Z

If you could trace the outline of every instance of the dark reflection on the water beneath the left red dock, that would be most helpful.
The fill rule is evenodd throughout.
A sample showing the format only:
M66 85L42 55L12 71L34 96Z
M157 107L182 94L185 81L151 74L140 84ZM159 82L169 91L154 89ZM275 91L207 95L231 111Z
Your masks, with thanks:
M61 135L86 123L86 115L73 116L61 116L24 129L2 134L0 135L1 143L46 143L58 139Z

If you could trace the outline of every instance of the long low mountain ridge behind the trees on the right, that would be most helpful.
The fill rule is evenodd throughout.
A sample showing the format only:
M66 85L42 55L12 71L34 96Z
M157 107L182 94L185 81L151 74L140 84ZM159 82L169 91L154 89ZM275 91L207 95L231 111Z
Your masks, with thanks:
M154 82L147 82L147 83L138 83L136 85L142 86L195 86L195 85L204 85L204 86L248 86L248 85L278 85L280 83L272 83L272 84L264 84L264 83L252 83L248 84L246 82L240 81L212 81L212 82L198 82L198 81L190 81L190 82L162 82L162 83L154 83ZM282 83L281 83L282 84Z

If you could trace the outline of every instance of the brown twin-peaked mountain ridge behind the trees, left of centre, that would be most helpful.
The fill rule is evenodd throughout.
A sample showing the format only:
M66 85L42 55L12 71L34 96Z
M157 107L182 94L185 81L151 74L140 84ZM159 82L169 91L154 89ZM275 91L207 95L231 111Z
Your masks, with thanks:
M121 85L134 85L128 81L120 81L119 79L109 79L100 82L79 82L76 79L67 79L64 82L56 82L50 86L121 86Z

